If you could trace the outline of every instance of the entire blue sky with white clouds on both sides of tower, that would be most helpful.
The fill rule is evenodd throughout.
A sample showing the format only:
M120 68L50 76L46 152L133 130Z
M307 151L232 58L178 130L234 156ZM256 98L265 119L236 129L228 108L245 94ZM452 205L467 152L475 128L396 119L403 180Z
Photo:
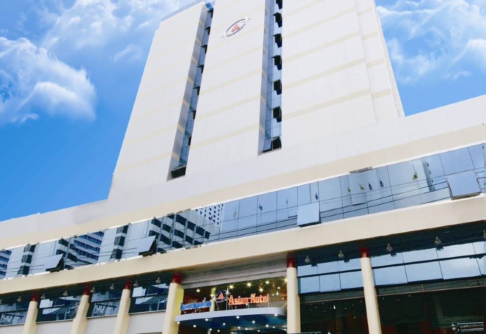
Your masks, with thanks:
M189 2L2 2L0 221L106 199L153 33ZM377 5L406 114L486 94L486 0Z

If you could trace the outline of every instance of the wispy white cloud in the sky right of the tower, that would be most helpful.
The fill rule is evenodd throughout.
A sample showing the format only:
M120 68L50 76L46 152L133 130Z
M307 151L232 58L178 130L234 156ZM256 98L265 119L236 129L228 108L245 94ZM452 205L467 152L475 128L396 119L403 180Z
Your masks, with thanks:
M399 0L378 12L402 84L486 70L486 0Z

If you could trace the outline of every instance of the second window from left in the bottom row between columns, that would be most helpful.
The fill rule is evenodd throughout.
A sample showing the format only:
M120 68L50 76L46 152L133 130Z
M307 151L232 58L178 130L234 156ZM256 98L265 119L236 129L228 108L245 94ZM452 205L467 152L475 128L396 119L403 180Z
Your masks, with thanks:
M54 297L39 303L37 322L74 319L81 297Z

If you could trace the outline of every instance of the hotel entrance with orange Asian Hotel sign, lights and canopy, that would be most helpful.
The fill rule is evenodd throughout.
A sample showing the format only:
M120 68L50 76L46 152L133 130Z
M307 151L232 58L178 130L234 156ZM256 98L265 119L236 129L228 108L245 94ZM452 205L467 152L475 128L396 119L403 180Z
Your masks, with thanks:
M176 321L181 334L284 333L287 280L277 277L186 289Z

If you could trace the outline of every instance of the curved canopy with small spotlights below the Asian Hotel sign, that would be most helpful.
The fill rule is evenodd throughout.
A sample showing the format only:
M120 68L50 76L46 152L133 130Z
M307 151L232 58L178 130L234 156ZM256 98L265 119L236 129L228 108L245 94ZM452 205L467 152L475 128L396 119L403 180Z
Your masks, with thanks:
M227 311L199 312L183 314L176 317L176 321L193 327L231 329L240 328L272 328L287 324L287 314L279 307L256 307Z

